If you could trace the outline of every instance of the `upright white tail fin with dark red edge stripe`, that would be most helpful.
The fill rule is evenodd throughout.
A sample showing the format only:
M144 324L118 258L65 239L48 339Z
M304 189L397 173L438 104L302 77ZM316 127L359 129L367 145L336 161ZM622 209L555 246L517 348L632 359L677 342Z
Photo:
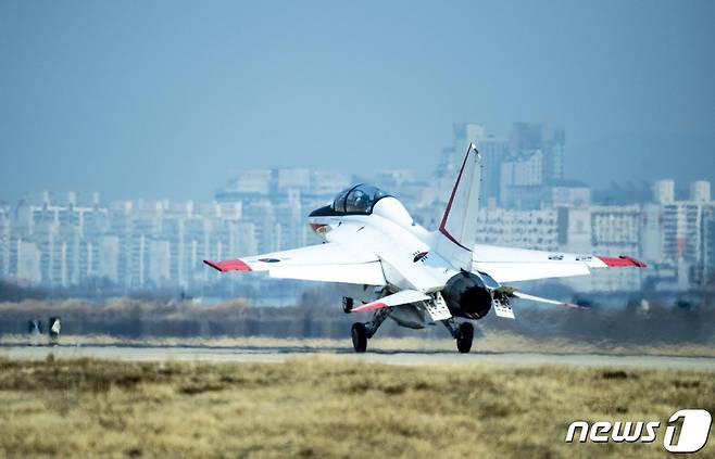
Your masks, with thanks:
M480 183L481 155L469 143L437 234L437 252L465 270L472 270L472 248L477 240Z

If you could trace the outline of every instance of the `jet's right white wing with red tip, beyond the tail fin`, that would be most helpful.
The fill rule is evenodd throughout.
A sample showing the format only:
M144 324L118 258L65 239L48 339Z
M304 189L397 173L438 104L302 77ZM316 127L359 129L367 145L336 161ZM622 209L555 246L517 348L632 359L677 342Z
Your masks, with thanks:
M586 276L598 268L645 267L643 262L629 256L581 255L485 244L474 246L472 262L474 270L486 272L500 283Z

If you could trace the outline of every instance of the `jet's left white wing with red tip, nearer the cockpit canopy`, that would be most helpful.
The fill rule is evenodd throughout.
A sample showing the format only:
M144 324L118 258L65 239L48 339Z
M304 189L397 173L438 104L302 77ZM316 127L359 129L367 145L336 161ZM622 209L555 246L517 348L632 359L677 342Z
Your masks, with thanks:
M268 271L272 278L386 284L382 265L375 254L338 243L309 245L224 262L204 259L203 263L221 272Z

